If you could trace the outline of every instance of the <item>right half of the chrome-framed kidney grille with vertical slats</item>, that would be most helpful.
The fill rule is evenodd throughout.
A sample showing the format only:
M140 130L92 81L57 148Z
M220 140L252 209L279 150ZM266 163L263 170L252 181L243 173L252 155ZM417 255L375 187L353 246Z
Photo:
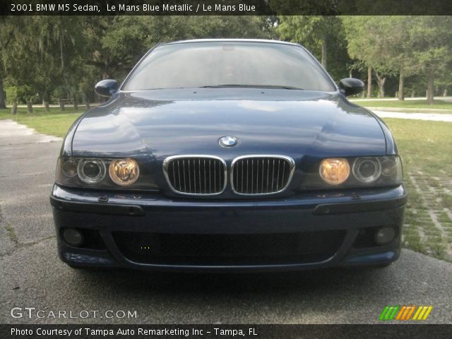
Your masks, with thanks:
M275 194L292 179L294 161L284 155L244 155L232 161L232 190L236 194Z

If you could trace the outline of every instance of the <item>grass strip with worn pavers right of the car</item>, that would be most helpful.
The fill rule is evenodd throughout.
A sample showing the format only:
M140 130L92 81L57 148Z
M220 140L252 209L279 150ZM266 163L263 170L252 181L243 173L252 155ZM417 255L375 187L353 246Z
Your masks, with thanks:
M403 158L403 246L452 261L452 124L385 119Z

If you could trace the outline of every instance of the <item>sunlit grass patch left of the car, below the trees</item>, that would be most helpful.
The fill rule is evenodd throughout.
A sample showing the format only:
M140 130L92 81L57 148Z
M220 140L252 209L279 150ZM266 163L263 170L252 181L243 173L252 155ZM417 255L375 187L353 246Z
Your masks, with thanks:
M11 108L0 109L0 119L12 119L39 133L64 137L73 121L85 112L84 109L76 111L71 108L61 112L59 108L54 107L50 108L49 113L44 112L44 107L35 107L33 110L32 114L28 114L26 108L19 107L18 113L11 115Z

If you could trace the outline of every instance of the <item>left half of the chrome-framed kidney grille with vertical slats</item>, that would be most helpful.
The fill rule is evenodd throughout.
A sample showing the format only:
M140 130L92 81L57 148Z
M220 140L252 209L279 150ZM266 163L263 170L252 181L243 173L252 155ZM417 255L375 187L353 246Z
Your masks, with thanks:
M213 155L177 155L163 163L171 189L179 194L220 194L226 186L226 164Z

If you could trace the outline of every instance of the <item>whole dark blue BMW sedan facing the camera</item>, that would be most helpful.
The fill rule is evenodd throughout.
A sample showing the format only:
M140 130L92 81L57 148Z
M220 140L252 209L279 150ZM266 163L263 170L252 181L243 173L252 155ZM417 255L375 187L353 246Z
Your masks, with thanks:
M407 199L386 125L298 44L148 52L64 140L50 201L73 267L385 266Z

